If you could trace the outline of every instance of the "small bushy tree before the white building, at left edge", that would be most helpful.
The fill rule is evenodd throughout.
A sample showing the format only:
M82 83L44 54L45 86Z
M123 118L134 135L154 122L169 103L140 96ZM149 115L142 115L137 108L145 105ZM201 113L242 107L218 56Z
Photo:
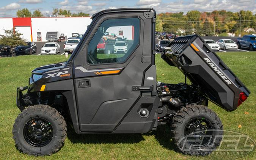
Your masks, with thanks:
M17 31L11 30L4 30L5 35L0 35L0 44L5 46L10 46L14 48L18 45L25 45L25 40L21 38L21 33Z

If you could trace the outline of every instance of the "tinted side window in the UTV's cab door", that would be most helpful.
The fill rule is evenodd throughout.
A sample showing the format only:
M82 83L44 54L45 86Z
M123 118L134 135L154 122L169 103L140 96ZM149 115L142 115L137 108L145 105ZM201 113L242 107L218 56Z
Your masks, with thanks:
M140 19L108 19L88 44L87 63L122 63L139 44ZM120 35L123 31L123 35Z

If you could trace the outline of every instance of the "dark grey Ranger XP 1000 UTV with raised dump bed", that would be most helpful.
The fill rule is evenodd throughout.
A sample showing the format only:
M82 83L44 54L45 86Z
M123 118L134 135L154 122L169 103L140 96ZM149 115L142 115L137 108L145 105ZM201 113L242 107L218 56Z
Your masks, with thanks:
M22 111L13 125L17 148L29 155L57 152L66 138L66 119L76 133L147 133L166 124L184 154L214 151L223 126L208 100L233 111L250 91L197 35L176 38L162 52L191 85L157 82L155 16L152 8L94 14L68 61L34 69L29 85L17 88ZM110 52L112 44L97 51L104 33L119 31L127 52Z

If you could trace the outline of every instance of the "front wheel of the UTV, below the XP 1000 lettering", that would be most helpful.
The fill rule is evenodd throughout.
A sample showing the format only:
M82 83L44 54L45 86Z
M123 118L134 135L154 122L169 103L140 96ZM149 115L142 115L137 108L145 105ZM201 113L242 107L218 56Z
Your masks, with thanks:
M13 124L13 139L17 149L28 155L51 155L66 138L63 116L47 105L25 108Z

